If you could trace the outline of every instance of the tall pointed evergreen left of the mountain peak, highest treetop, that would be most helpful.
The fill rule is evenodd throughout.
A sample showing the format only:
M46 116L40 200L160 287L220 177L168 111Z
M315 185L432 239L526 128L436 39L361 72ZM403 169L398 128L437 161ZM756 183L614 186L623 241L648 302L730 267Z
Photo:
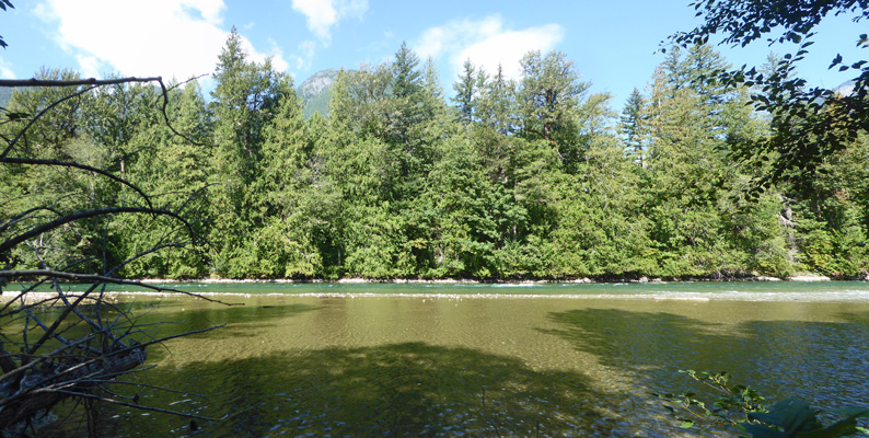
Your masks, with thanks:
M237 230L259 228L265 220L265 211L257 208L263 194L251 187L260 176L266 126L292 92L291 80L276 72L269 59L258 65L246 56L233 27L218 57L211 93L216 120L211 241L218 270L230 277L256 272L259 242Z

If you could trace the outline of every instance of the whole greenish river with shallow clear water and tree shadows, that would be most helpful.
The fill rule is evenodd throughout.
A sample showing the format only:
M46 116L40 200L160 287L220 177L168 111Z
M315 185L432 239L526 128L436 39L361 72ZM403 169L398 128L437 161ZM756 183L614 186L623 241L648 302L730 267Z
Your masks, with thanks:
M177 287L244 306L121 295L172 323L151 335L227 325L152 347L131 377L181 392L119 390L223 419L104 407L107 436L718 436L649 394L693 388L680 369L869 405L867 283Z

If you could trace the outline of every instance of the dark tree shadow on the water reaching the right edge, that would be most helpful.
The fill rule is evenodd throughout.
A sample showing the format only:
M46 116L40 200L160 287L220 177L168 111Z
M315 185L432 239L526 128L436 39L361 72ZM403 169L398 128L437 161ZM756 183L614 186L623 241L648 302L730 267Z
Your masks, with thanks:
M636 395L658 390L698 390L680 369L726 370L734 383L757 388L770 400L797 396L830 410L867 405L869 314L842 315L844 322L745 321L710 324L662 312L581 309L556 312L558 328L545 331L593 354L626 376ZM662 413L647 396L647 412Z

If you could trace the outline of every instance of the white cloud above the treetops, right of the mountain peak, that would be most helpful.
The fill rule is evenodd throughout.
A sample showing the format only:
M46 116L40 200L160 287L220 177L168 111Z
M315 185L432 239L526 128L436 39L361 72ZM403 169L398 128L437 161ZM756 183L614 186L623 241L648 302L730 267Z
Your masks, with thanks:
M521 74L522 56L531 50L548 51L563 38L564 28L558 24L510 30L505 28L500 15L489 15L483 20L453 20L430 27L422 32L414 49L420 59L445 57L454 74L471 59L488 73L497 71L501 65L505 76L517 79Z

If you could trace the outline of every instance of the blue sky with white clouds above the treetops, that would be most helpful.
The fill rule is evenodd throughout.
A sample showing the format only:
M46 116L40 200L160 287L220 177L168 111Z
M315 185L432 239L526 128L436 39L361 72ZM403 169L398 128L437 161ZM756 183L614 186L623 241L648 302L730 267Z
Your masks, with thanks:
M297 84L327 68L355 69L393 59L403 42L421 61L431 58L448 95L470 59L519 78L530 50L560 50L591 92L610 93L621 111L634 88L644 91L663 56L660 43L698 24L688 0L11 0L0 12L0 78L26 79L42 67L84 77L162 76L185 80L213 72L235 26L251 59ZM835 88L850 79L829 70L837 53L855 48L866 23L827 18L800 65L810 85ZM792 46L719 46L731 64L760 66L770 51ZM862 58L860 58L862 55ZM209 88L205 79L204 88Z

